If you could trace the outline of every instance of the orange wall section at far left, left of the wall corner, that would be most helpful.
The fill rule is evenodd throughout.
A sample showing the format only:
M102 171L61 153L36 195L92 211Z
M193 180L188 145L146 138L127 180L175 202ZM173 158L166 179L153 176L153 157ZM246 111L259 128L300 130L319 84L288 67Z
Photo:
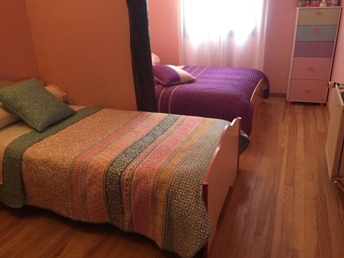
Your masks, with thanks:
M0 1L0 79L39 77L25 0Z

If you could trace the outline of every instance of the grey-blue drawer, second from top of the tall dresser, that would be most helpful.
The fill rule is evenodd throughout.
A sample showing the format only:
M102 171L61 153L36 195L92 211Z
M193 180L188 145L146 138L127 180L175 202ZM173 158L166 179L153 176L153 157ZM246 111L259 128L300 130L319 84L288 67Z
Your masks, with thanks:
M336 25L299 25L297 41L335 41Z

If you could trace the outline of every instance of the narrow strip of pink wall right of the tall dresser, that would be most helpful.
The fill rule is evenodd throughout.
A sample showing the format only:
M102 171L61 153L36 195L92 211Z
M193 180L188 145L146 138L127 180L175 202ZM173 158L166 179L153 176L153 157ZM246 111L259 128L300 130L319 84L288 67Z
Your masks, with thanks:
M336 83L344 83L344 12L342 12L341 26L336 46L336 56L332 70L332 80Z

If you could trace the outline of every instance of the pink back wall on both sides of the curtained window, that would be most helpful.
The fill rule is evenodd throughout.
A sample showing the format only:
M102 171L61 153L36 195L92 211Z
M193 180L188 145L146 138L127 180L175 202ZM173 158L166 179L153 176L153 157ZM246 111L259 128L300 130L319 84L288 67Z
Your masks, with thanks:
M151 48L162 63L179 63L178 0L149 0ZM271 92L286 93L296 7L299 0L269 1L264 72Z

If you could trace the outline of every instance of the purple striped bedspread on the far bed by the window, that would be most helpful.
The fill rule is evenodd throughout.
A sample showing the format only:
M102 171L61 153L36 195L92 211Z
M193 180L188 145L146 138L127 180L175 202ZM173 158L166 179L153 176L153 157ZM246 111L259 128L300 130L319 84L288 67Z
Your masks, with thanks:
M230 122L241 117L241 129L250 135L253 116L250 98L262 78L266 79L264 98L270 94L265 74L242 67L185 66L183 69L197 80L184 85L155 85L159 112Z

